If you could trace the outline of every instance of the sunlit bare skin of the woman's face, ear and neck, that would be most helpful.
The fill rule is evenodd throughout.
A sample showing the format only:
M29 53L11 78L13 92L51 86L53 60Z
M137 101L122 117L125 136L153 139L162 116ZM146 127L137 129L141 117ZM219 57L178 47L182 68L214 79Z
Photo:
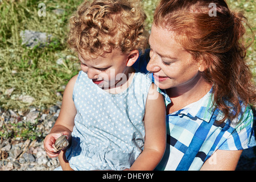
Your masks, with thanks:
M151 51L147 70L154 74L155 84L160 89L166 89L172 99L172 107L169 106L167 113L199 100L212 86L203 78L203 62L194 60L176 42L175 36L166 28L153 25L149 38Z

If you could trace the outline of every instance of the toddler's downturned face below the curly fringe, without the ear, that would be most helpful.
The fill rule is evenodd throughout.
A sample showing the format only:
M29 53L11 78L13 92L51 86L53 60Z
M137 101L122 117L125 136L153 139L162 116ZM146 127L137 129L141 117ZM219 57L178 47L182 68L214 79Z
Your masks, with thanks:
M96 59L84 60L79 55L81 69L88 77L102 89L114 88L122 79L127 79L125 71L129 55L113 49Z

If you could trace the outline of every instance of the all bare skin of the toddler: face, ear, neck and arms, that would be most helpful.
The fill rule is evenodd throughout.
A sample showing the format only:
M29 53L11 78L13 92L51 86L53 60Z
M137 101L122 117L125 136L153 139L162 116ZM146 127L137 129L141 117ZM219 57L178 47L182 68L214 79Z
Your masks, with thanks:
M134 69L131 67L138 59L138 50L130 53L122 53L113 49L96 59L85 60L79 55L81 69L87 73L94 84L106 92L117 94L127 89L134 76ZM73 101L73 88L78 75L69 80L63 95L63 104L59 117L51 130L51 134L44 139L44 148L49 157L59 156L63 170L73 170L65 158L65 150L57 152L52 146L61 134L68 135L71 142L75 117L77 114L75 102ZM121 88L121 89L117 89ZM147 102L144 109L145 140L144 148L129 170L153 170L162 159L166 148L166 122L165 106L163 97L152 84L148 90Z

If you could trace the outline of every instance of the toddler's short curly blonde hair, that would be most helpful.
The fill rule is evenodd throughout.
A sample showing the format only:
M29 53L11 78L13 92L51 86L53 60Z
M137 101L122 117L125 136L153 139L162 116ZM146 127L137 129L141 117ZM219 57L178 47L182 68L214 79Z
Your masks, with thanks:
M92 59L118 48L122 53L144 52L146 14L141 1L84 1L69 20L68 45L84 59Z

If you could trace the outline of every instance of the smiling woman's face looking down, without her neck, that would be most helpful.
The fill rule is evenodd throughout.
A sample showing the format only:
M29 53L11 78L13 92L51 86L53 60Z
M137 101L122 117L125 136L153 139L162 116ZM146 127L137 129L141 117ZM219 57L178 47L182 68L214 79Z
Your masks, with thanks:
M188 89L195 85L201 66L175 41L174 32L153 25L149 43L151 59L147 70L154 74L160 89Z

